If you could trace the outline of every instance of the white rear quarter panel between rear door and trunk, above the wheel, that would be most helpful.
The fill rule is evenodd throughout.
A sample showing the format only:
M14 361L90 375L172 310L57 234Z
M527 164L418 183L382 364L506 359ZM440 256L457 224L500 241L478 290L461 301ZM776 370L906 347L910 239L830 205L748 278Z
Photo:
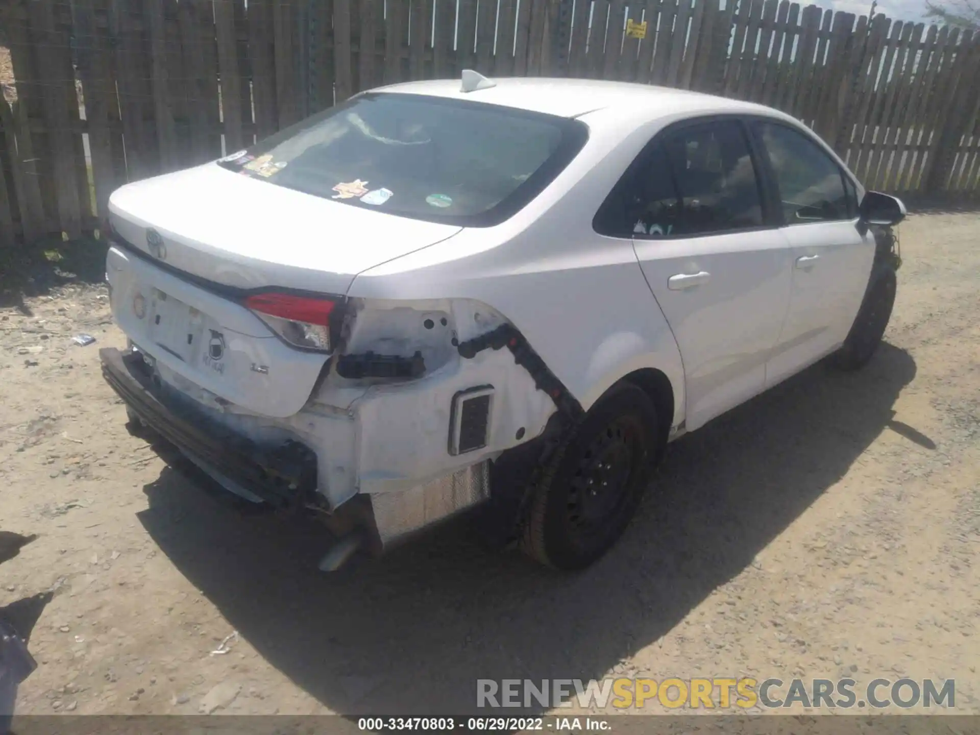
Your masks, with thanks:
M367 270L349 295L440 294L488 304L515 325L586 411L629 372L661 370L673 388L671 425L677 425L684 417L684 371L676 341L632 241L593 231L592 217L608 190L588 188L569 192L560 212L537 213L537 220L518 213L497 227L464 229Z

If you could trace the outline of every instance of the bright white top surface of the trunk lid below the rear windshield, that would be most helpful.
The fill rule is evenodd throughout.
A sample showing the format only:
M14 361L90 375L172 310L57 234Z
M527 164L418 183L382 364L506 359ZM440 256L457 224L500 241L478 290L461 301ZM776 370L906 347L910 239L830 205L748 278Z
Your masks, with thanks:
M343 295L359 272L452 237L457 225L368 210L207 164L127 184L109 202L130 245L228 286ZM155 229L163 249L151 249Z

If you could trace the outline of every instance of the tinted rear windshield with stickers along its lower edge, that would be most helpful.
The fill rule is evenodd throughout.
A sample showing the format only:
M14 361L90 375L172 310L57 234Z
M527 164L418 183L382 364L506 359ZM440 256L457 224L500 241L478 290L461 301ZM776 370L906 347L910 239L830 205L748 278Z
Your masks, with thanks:
M585 143L583 123L410 94L355 97L222 167L417 220L489 226L521 209Z

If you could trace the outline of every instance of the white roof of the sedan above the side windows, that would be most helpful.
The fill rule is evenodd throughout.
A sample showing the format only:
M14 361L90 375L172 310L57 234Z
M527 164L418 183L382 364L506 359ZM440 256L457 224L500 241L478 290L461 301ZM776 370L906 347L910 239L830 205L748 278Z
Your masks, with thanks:
M754 114L784 117L771 108L749 102L716 97L686 89L602 79L544 78L515 76L493 78L494 86L471 92L461 91L460 79L410 81L378 87L371 91L420 94L519 110L577 118L587 113L619 108L626 114L642 114L647 120L677 113ZM660 113L660 115L658 115Z

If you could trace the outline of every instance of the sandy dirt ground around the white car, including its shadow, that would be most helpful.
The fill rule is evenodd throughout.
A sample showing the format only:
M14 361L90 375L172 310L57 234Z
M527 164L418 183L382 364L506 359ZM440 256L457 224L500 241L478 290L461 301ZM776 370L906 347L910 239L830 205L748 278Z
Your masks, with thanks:
M901 238L873 362L672 445L570 576L460 526L320 573L316 527L239 515L126 433L101 271L55 264L0 309L2 527L39 534L0 568L39 662L19 711L466 712L477 678L605 675L955 678L980 711L980 216Z

